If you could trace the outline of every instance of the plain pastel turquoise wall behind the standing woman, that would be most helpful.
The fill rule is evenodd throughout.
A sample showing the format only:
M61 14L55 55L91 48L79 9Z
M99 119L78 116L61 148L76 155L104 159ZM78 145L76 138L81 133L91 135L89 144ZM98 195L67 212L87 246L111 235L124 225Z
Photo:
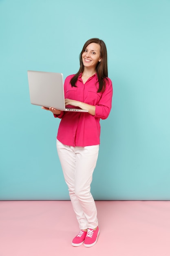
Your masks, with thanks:
M0 200L68 200L60 120L33 106L27 70L77 72L85 41L108 49L95 200L170 200L170 1L0 0Z

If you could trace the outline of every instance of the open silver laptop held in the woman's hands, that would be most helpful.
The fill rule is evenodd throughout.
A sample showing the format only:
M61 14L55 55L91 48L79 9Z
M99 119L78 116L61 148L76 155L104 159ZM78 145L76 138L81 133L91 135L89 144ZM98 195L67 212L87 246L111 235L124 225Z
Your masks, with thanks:
M65 107L62 73L28 70L28 81L31 104L64 111L88 112Z

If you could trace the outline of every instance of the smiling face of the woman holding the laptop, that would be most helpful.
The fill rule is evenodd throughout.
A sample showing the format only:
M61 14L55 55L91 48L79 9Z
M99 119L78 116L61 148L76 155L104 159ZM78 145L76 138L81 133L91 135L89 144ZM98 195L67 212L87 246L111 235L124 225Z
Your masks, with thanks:
M97 43L90 43L82 53L82 61L84 67L95 68L97 63L101 61L100 45Z

